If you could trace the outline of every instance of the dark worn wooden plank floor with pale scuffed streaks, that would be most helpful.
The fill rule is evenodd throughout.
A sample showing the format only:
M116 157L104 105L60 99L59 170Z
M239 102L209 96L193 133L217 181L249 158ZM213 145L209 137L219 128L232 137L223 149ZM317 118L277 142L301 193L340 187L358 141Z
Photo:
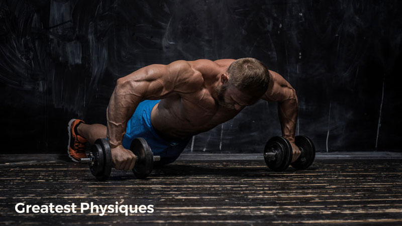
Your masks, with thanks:
M317 159L278 173L263 160L182 158L147 180L113 170L108 182L64 160L1 160L1 225L402 225L401 159ZM19 202L152 204L154 212L17 213Z

